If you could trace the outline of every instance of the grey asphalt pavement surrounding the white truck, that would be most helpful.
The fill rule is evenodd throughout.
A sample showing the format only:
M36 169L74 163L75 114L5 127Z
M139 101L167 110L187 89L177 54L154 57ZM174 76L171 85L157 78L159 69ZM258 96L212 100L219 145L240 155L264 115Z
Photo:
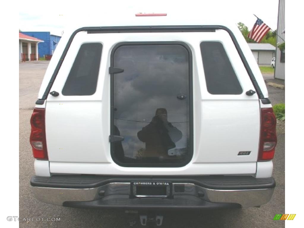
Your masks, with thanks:
M19 217L57 217L60 221L19 222L19 227L129 227L122 211L65 208L33 198L29 185L35 174L29 145L29 119L47 64L47 61L19 64ZM285 102L285 90L268 87L268 92L273 104ZM274 195L260 208L165 212L162 227L285 227L284 221L273 221L275 214L285 212L284 128L278 130L273 176L276 180Z

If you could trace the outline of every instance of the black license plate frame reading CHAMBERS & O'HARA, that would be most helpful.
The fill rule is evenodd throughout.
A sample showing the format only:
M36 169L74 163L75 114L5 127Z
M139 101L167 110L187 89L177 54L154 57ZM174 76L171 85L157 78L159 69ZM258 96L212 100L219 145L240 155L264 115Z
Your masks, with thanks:
M170 181L131 181L131 198L172 198Z

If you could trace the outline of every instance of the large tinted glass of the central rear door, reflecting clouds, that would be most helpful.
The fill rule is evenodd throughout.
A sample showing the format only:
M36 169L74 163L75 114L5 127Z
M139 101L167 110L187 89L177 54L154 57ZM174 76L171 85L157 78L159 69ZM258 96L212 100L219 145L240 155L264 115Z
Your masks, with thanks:
M189 52L175 42L134 43L114 50L112 155L132 166L190 161Z

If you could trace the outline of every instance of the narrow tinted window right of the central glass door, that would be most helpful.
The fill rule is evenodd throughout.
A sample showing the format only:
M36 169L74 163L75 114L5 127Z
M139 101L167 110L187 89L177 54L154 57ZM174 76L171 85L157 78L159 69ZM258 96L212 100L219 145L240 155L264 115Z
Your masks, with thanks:
M210 94L241 94L243 89L223 44L205 41L200 47L208 92Z

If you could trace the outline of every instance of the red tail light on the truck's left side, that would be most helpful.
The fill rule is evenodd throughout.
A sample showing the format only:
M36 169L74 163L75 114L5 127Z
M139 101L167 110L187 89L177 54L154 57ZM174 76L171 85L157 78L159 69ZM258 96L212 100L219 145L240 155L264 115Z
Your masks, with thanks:
M45 137L45 109L34 109L31 117L31 135L29 137L33 156L39 159L48 159L47 142Z

